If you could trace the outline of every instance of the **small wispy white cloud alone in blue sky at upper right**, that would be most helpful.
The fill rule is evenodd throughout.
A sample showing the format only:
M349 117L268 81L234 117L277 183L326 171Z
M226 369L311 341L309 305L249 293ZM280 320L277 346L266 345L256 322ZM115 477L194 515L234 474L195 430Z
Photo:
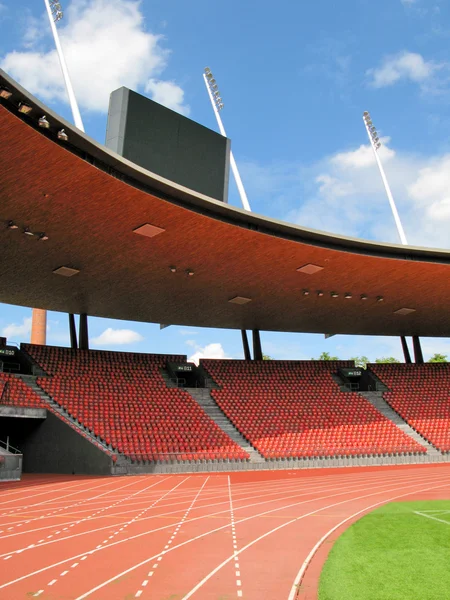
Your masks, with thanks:
M403 51L384 58L381 66L369 69L370 85L382 88L400 80L409 80L424 86L442 68L443 64L426 61L421 54Z

